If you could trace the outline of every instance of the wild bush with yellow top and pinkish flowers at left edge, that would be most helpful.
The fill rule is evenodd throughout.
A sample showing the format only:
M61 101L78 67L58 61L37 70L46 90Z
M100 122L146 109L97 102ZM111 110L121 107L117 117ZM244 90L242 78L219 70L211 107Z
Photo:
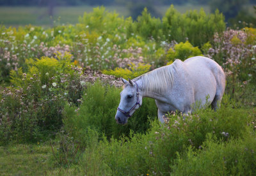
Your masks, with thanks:
M0 92L1 143L35 142L60 129L65 101L77 104L83 88L70 57L27 59L27 73L11 71L12 87Z

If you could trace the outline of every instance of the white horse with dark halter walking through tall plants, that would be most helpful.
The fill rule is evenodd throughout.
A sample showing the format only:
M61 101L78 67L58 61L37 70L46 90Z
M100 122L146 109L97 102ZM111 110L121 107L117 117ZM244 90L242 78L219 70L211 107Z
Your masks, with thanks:
M157 68L134 78L125 80L124 89L116 112L116 122L127 123L127 119L142 104L143 97L154 98L158 108L158 119L179 110L183 114L193 112L192 105L200 102L200 107L211 103L216 110L225 91L225 73L212 59L202 56L191 57L182 62ZM208 99L206 100L206 96Z

